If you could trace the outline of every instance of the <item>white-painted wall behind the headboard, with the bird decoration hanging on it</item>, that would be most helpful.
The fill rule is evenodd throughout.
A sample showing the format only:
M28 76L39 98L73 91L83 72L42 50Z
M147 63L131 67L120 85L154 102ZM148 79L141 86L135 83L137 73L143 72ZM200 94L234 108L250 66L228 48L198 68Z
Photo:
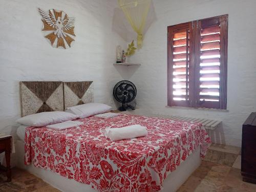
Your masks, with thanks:
M75 17L72 48L51 47L38 7ZM95 102L114 106L112 88L122 77L111 64L116 46L126 46L112 29L115 7L116 0L0 0L0 131L15 133L19 81L93 80Z

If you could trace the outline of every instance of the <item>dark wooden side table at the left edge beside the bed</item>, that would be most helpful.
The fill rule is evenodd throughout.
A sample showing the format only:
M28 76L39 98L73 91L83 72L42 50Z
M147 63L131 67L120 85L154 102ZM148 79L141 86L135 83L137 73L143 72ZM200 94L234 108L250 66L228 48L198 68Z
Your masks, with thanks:
M6 159L6 167L1 165L0 163L0 171L6 172L7 175L7 181L6 182L11 182L11 136L6 136L0 138L0 153L5 152L5 159Z

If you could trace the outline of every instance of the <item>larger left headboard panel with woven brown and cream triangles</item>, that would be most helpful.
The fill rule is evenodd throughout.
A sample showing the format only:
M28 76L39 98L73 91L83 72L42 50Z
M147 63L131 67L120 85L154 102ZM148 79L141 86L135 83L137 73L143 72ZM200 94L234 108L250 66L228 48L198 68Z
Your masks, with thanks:
M22 116L48 111L63 111L61 81L20 82Z

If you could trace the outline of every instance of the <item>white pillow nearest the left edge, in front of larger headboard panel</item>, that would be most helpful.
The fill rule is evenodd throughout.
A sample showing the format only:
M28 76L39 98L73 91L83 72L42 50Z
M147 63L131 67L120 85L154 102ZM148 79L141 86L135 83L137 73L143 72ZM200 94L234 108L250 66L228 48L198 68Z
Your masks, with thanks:
M28 115L17 119L16 122L27 126L46 126L50 124L73 120L76 118L78 118L78 116L72 113L53 111Z

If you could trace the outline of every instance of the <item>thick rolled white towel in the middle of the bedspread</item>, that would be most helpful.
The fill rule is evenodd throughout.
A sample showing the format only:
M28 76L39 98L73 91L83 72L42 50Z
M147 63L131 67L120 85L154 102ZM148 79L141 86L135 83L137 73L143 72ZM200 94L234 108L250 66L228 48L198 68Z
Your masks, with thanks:
M110 138L111 141L117 141L122 139L132 139L136 137L142 137L147 135L147 129L145 126L139 124L124 126L122 128L108 128L105 129L105 137Z

